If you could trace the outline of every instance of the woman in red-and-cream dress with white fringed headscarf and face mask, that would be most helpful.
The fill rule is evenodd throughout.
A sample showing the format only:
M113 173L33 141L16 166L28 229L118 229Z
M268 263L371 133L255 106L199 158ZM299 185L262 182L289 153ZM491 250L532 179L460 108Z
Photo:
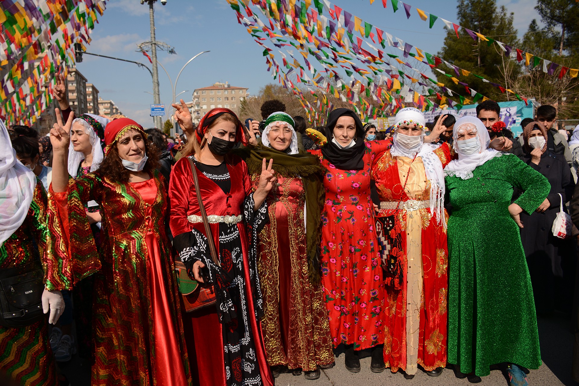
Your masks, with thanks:
M424 143L422 112L401 109L393 145L372 168L380 199L376 233L386 284L384 362L411 379L421 365L438 376L446 363L446 142ZM439 119L433 135L446 130ZM400 342L400 344L394 344ZM424 347L424 350L421 348Z

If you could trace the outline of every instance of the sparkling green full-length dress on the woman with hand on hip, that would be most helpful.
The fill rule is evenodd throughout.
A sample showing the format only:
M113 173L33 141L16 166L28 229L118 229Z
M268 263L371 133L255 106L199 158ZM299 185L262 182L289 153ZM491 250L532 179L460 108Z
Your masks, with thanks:
M519 228L508 213L515 203L533 213L549 193L543 175L504 154L472 171L446 176L453 210L448 221L448 362L463 373L490 373L511 362L541 365L537 318ZM523 224L524 225L524 224Z

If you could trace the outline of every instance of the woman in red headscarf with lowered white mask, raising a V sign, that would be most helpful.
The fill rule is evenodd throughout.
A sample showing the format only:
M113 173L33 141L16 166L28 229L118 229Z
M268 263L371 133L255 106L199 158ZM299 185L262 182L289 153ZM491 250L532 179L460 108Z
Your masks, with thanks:
M156 148L140 124L115 119L105 128L106 157L100 167L73 179L67 156L74 114L65 125L58 110L56 117L50 131L52 218L65 224L74 281L96 273L91 384L188 385L189 360L164 226L166 181L156 171ZM91 200L102 215L100 260L82 204Z

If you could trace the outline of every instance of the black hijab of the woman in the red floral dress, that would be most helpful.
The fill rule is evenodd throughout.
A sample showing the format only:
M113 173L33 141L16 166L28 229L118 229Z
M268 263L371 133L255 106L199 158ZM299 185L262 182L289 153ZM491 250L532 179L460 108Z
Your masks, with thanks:
M354 122L356 122L356 144L348 149L342 149L332 142L336 122L338 122L339 117L345 115L353 117ZM366 150L364 143L365 134L362 128L362 121L355 112L344 108L332 110L328 115L325 135L328 142L323 146L322 154L329 163L340 170L362 170L364 167L364 160L362 158Z

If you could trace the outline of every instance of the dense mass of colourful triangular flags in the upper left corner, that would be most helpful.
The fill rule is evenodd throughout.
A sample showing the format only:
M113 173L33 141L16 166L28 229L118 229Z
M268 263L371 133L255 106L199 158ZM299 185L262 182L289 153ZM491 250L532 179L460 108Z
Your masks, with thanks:
M105 0L0 3L0 118L36 122L52 104L54 74L74 65L74 43L90 43L104 9Z

